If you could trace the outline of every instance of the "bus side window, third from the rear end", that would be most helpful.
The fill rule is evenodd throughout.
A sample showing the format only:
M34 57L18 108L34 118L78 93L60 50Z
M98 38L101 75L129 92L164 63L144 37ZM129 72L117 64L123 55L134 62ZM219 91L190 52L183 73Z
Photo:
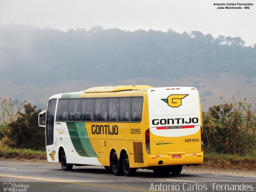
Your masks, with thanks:
M118 121L119 98L108 99L108 121Z

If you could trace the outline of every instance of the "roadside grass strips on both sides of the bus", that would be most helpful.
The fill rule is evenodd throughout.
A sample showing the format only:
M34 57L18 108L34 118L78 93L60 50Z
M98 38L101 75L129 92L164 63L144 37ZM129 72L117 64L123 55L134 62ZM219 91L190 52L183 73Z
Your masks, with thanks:
M46 151L37 151L31 149L12 149L1 145L0 157L16 159L47 159ZM244 170L256 170L256 156L205 153L204 164L200 166L208 168L234 168Z

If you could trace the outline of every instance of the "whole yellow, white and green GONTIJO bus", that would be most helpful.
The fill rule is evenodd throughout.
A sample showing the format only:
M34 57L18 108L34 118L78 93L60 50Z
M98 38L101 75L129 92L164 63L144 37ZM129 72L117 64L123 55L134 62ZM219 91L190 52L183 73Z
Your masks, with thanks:
M184 165L203 163L200 97L193 87L106 86L57 94L38 122L46 128L48 162L60 162L64 171L102 165L114 175L132 176L138 168L180 174Z

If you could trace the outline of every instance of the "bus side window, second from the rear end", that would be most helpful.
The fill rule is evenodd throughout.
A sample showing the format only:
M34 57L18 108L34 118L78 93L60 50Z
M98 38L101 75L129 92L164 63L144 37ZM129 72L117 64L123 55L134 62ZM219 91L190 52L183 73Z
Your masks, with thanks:
M120 98L119 121L131 121L131 98Z

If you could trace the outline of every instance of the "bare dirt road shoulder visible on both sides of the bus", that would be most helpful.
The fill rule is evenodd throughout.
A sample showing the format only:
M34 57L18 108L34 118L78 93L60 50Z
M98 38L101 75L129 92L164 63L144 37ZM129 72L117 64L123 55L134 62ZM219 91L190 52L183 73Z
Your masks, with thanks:
M4 158L0 157L0 162L20 162L20 163L34 163L34 164L55 164L47 162L47 160L40 159L17 159L17 158ZM58 163L56 163L58 164ZM255 177L256 170L243 170L243 169L226 169L226 168L209 168L204 165L199 166L183 166L182 173L191 174L216 174L216 175L231 175L242 177Z

